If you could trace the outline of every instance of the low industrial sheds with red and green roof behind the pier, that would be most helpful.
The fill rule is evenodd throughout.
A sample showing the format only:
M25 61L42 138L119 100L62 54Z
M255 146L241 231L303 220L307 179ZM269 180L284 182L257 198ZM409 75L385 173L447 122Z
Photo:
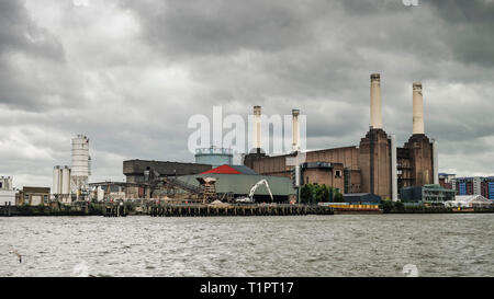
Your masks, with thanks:
M265 180L273 202L295 199L295 189L289 177L259 175L245 165L181 163L169 161L128 160L123 162L125 183L92 183L98 200L111 200L117 196L125 199L154 198L164 200L232 202L248 196L251 188ZM204 199L205 186L211 187L211 198ZM213 198L213 199L212 199ZM268 187L259 184L254 200L270 203ZM212 200L210 200L212 199Z

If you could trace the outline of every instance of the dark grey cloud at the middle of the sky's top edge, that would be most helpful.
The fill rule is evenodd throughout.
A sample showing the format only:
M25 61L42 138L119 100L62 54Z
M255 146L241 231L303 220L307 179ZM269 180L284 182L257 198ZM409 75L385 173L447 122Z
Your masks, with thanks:
M228 55L239 49L279 50L313 38L304 2L125 1L146 38L173 56Z

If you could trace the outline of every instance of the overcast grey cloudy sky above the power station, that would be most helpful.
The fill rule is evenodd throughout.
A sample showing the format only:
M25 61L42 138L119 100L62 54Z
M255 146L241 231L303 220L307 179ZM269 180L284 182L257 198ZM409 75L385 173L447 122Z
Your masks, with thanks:
M412 133L412 82L442 172L494 174L494 1L0 0L0 175L52 184L70 138L91 139L91 182L125 159L193 161L188 118L307 115L307 148L357 145L369 74L383 123Z

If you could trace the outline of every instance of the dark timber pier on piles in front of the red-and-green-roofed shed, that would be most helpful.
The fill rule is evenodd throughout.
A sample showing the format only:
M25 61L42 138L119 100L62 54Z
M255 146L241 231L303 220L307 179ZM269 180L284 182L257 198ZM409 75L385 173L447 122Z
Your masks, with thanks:
M204 217L204 216L301 216L333 215L330 207L306 205L160 205L148 207L151 217Z

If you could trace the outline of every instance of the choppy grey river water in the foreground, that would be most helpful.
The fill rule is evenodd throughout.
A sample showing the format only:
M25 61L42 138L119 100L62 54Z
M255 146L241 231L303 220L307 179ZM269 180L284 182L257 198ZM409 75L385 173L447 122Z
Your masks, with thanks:
M404 272L494 276L494 215L0 218L0 276Z

